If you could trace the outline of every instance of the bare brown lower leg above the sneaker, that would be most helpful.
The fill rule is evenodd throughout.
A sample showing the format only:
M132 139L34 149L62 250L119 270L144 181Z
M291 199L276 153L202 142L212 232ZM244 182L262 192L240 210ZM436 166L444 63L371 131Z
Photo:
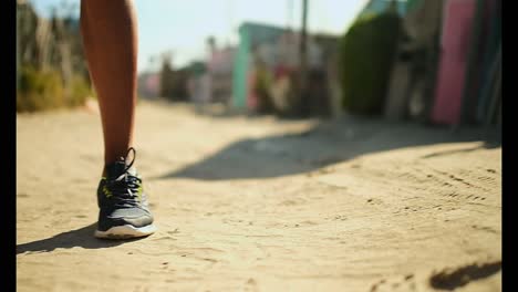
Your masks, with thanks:
M136 105L137 23L131 0L82 0L81 32L101 108L104 163L126 155Z

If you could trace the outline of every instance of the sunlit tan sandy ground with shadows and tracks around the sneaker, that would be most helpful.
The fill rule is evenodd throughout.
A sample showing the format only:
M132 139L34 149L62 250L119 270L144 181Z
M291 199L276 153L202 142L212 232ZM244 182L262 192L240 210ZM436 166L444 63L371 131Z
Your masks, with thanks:
M18 291L501 291L476 131L141 103L136 145L159 231L97 240L97 114L17 116Z

